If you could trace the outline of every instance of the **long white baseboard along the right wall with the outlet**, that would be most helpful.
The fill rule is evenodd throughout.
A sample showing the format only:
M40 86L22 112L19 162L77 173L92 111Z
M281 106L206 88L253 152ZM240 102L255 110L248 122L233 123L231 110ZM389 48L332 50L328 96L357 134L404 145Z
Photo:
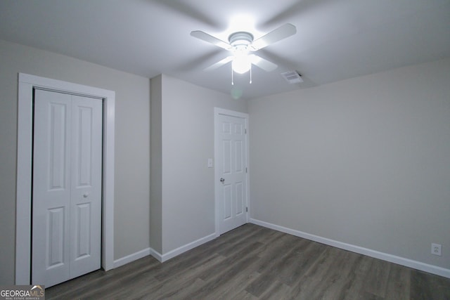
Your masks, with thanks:
M383 261L389 261L391 263L397 263L401 266L406 266L409 268L415 268L417 270L423 270L428 273L432 273L435 275L443 276L445 278L450 278L450 269L433 266L428 263L422 263L420 261L413 261L412 259L405 259L401 256L395 256L392 254L387 254L384 252L378 252L372 249L367 249L364 247L355 246L354 244L347 244L345 242L339 242L336 240L330 240L326 237L319 237L318 235L311 235L309 233L304 233L299 230L294 230L290 228L286 228L283 226L278 226L272 223L259 221L257 219L250 219L250 223L263 226L266 228L271 228L274 230L281 231L282 233L288 233L290 235L295 235L297 237L302 237L307 240L312 240L314 242L320 242L321 244L328 244L329 246L333 246L340 249L345 249L351 252L364 254L366 256L371 256L375 259L382 259Z

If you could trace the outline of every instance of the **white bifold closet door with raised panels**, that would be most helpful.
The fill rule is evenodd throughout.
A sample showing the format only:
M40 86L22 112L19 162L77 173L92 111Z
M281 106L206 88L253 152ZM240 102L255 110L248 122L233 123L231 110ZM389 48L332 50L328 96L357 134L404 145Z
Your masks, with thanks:
M34 91L32 284L101 266L102 100Z

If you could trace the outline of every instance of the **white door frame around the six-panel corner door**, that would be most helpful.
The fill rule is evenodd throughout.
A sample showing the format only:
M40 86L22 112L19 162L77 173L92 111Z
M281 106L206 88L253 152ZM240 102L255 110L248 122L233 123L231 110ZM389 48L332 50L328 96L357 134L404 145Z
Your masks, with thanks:
M248 211L245 213L245 219L248 223L250 216L250 156L249 156L249 144L248 144L248 136L250 134L249 131L249 117L245 112L236 112L234 110L226 110L220 107L214 107L214 219L215 219L215 235L218 237L220 235L219 231L219 193L220 193L220 181L221 174L219 174L219 153L220 153L220 141L219 135L217 131L220 126L219 115L226 115L230 117L238 117L245 119L245 129L247 130L247 134L245 134L245 159L247 162L247 173L245 174L245 206L248 208Z

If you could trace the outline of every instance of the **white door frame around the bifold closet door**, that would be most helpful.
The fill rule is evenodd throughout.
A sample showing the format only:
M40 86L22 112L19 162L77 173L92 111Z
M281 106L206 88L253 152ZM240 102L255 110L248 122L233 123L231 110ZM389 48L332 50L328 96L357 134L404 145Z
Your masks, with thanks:
M103 99L101 266L114 268L115 91L19 73L15 213L15 285L30 285L32 218L33 89Z

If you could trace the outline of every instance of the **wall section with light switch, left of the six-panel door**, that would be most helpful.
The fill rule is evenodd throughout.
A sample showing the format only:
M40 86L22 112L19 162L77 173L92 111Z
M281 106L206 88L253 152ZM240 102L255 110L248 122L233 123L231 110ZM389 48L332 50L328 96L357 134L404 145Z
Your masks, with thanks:
M153 80L162 91L160 254L165 255L214 234L214 169L207 168L214 157L214 107L246 112L247 104L166 75ZM152 207L153 200L158 199Z

